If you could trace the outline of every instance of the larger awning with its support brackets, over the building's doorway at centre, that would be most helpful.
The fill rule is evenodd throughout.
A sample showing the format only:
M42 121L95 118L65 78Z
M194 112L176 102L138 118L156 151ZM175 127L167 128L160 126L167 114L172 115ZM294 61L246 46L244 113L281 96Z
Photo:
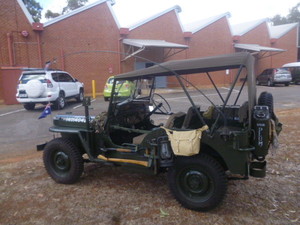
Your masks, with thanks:
M129 52L127 53L127 56L123 59L123 61L127 60L130 57L133 57L134 55L144 51L145 49L168 49L168 51L164 54L164 59L166 59L189 48L187 45L168 42L165 40L124 39L123 44L130 46Z

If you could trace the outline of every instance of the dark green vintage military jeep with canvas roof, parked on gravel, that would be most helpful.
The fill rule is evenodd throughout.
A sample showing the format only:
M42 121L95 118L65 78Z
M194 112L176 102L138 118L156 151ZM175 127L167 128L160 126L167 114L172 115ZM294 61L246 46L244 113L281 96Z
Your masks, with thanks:
M107 112L90 116L85 98L85 115L54 117L50 131L59 137L38 146L48 174L71 184L85 162L167 173L170 190L184 207L215 208L229 179L266 175L269 148L278 144L281 124L272 95L263 92L257 98L254 62L249 53L235 53L168 61L115 76ZM179 97L156 89L159 77ZM197 86L204 78L210 88ZM222 87L224 79L229 87ZM130 96L118 95L122 81L135 84Z

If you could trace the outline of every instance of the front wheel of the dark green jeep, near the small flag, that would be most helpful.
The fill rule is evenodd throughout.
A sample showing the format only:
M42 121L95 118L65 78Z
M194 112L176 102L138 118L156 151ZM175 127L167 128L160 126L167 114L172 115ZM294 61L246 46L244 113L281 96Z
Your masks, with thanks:
M57 138L49 142L43 153L48 174L57 183L73 184L83 172L83 159L79 149L68 139Z

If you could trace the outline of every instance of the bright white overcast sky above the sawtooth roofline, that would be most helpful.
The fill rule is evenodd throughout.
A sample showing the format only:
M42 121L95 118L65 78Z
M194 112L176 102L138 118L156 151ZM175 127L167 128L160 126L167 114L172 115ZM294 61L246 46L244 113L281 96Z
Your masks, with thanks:
M61 13L66 6L65 0L36 0L44 8ZM88 3L96 0L89 0ZM88 4L87 3L87 4ZM279 14L286 16L289 10L300 3L300 0L115 0L115 12L121 27L129 27L143 19L151 17L175 5L181 7L179 18L182 24L203 20L229 12L232 25L272 18ZM45 22L42 19L42 22Z

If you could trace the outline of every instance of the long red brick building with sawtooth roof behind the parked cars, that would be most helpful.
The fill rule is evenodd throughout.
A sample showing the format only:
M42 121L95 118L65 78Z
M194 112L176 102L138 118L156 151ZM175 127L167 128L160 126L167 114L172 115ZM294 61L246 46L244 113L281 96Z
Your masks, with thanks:
M15 103L16 83L24 67L70 72L91 81L101 94L106 79L121 72L173 59L252 52L256 72L297 61L298 24L269 26L262 19L232 26L230 13L182 25L179 6L166 9L129 28L120 27L113 0L99 0L44 24L33 23L22 0L0 0L0 100ZM228 75L228 74L227 74ZM201 78L193 80L205 84ZM218 83L230 83L223 74ZM158 85L172 86L162 78Z

